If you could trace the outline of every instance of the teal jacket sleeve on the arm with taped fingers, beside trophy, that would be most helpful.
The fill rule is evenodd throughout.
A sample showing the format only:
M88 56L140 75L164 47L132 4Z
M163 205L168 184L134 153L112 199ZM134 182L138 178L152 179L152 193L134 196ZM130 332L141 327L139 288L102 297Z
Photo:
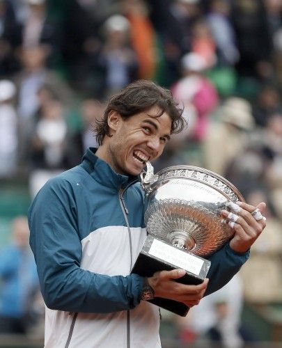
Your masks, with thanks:
M237 253L230 248L229 243L225 244L219 251L208 258L211 261L210 270L207 273L209 283L205 296L212 294L226 285L233 276L240 270L248 260L249 251Z

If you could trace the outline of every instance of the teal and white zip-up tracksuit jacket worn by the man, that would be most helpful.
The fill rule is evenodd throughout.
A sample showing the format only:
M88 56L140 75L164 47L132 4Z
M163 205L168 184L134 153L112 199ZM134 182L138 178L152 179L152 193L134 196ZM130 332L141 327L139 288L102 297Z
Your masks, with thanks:
M139 301L143 278L130 274L146 239L143 190L133 180L89 148L34 199L30 244L46 303L45 347L160 347L159 310ZM211 255L206 294L248 257L228 244Z

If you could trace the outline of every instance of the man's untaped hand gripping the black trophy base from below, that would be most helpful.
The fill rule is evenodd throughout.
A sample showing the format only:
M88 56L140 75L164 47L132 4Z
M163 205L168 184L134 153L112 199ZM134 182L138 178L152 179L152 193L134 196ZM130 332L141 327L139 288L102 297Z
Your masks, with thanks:
M148 283L155 292L155 296L185 303L189 307L197 305L205 294L208 279L200 285L185 285L175 282L174 279L185 276L184 269L172 271L159 271L148 278Z

